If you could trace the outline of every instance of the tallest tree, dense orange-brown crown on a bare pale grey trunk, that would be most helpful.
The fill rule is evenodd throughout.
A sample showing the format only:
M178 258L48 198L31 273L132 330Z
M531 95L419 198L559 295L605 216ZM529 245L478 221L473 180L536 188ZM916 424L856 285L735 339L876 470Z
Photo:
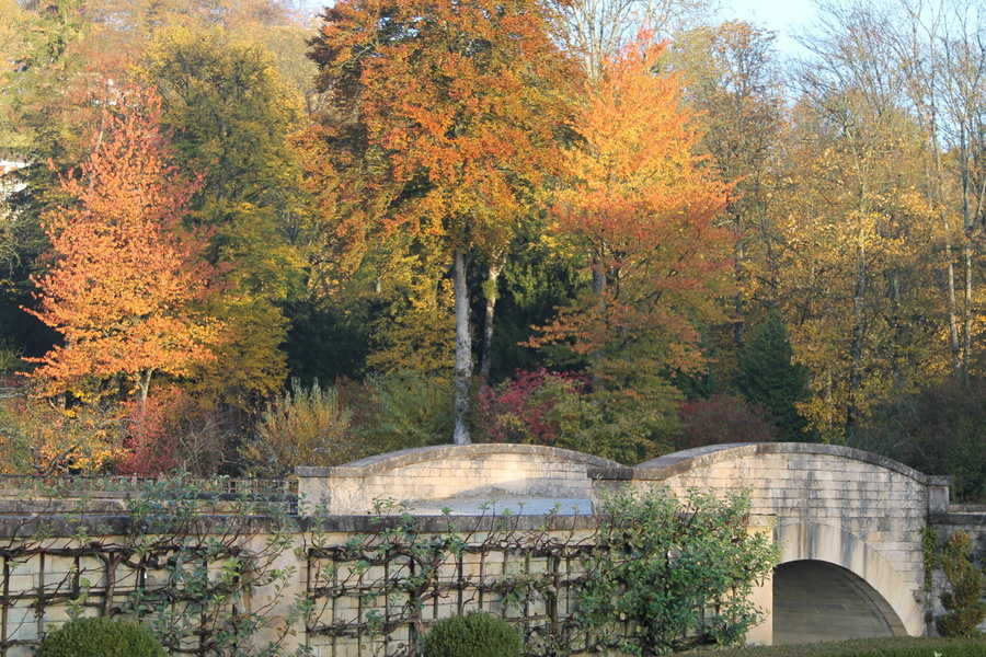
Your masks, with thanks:
M437 240L450 257L456 313L455 442L470 441L467 253L505 251L532 189L555 166L574 68L532 0L346 0L312 41L332 95L321 139L356 249L374 235Z

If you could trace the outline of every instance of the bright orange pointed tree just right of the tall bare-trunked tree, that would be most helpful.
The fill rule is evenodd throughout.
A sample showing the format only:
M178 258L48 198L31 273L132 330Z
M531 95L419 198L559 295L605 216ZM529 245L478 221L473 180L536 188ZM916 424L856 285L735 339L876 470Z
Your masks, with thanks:
M715 223L729 186L695 155L677 78L653 72L662 47L642 44L587 87L551 212L593 285L531 344L563 347L600 391L656 407L673 396L667 374L702 364L697 322L714 316L730 264L730 235Z

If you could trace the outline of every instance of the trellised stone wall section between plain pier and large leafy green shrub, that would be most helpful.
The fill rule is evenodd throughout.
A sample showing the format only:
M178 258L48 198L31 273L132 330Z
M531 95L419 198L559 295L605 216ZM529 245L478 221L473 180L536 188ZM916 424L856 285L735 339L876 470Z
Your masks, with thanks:
M331 522L332 519L329 519ZM444 519L420 518L416 540L440 544L448 535ZM375 562L360 567L358 551L342 549L352 533L324 534L316 542L324 548L308 552L308 596L313 614L307 641L318 657L357 657L400 654L413 634L435 621L455 614L483 610L507 619L528 642L528 649L547 648L565 619L576 610L578 583L585 575L584 551L592 545L593 518L515 517L506 527L491 517L458 517L457 527L471 546L447 555L437 566L432 585L421 596L420 614L408 613L413 601L388 583L412 575L406 558ZM340 593L343 595L340 595ZM409 619L409 615L412 616ZM370 621L370 619L376 619ZM376 623L385 632L370 633ZM578 647L582 637L565 638ZM543 652L548 652L547 649Z

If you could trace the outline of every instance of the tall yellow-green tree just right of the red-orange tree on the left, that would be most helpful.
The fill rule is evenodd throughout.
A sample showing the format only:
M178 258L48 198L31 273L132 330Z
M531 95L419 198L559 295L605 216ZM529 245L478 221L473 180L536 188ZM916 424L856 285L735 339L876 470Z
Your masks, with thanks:
M287 376L283 308L302 287L298 232L309 218L288 142L300 102L268 51L218 27L160 32L144 66L182 169L200 175L192 217L213 230L210 258L226 266L228 289L211 310L227 325L214 348L222 365L200 368L200 392L248 404Z

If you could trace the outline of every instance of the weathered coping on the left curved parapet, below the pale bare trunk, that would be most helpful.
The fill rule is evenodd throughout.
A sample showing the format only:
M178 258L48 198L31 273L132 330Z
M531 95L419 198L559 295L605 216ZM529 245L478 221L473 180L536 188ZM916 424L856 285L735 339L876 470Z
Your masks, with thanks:
M475 445L436 445L433 447L414 447L395 452L376 454L331 468L300 465L295 468L298 477L366 477L375 474L424 463L448 459L471 459L489 454L538 456L548 460L585 463L588 468L627 469L616 461L585 454L570 449L544 447L541 445L515 445L503 442L482 442Z

